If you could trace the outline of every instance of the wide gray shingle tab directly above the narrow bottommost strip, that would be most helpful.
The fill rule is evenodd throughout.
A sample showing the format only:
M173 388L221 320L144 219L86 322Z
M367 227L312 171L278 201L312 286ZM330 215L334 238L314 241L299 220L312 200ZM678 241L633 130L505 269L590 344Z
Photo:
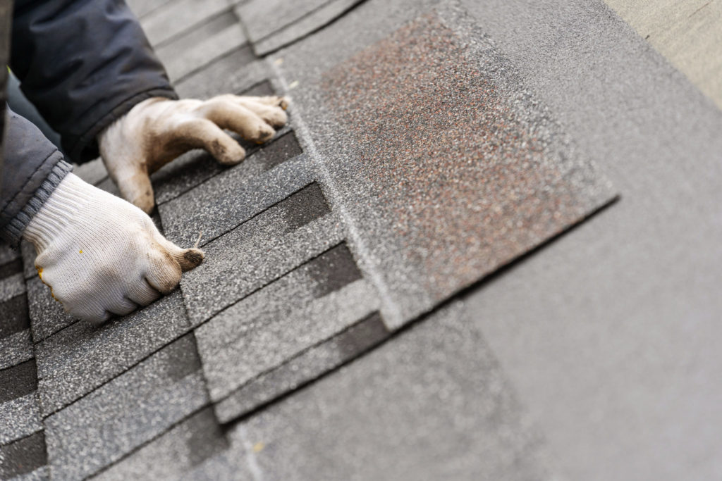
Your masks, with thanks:
M196 330L211 399L221 400L375 309L375 292L347 247L334 247Z

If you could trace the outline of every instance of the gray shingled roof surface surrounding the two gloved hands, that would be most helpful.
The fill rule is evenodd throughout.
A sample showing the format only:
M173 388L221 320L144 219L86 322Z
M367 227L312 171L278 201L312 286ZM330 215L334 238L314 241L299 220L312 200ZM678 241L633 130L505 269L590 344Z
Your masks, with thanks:
M722 113L606 5L129 3L183 97L290 124L153 176L206 259L139 312L0 250L0 477L719 472Z

